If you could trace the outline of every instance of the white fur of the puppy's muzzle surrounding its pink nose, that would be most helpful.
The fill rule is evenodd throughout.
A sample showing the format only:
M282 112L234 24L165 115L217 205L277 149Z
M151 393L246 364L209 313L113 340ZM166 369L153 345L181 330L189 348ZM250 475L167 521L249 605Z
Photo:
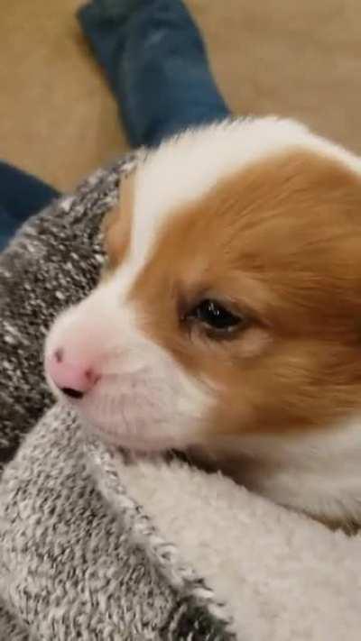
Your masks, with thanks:
M70 355L97 371L95 387L69 403L106 441L143 451L182 448L198 437L212 400L138 330L139 318L124 303L121 285L120 278L107 281L58 318L46 342L45 362L61 349L64 359Z

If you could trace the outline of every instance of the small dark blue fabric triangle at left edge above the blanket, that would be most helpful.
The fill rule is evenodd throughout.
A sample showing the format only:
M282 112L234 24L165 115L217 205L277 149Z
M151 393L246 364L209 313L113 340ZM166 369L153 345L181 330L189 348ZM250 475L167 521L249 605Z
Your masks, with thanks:
M0 160L0 251L28 216L58 196L42 180Z

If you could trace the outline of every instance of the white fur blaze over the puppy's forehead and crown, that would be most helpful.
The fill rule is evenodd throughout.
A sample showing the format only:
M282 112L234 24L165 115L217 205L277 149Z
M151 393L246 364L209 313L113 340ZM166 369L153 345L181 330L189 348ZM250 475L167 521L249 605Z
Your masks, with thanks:
M226 120L188 130L151 151L134 180L130 252L134 268L150 256L171 215L205 197L219 180L292 148L316 151L361 172L361 160L352 153L300 123L274 116Z

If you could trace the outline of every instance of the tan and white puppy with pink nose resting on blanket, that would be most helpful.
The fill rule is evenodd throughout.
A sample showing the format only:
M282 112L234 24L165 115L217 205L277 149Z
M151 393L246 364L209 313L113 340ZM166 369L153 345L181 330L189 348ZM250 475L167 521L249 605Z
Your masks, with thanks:
M105 245L51 389L111 444L361 523L361 160L273 117L187 131L125 179Z

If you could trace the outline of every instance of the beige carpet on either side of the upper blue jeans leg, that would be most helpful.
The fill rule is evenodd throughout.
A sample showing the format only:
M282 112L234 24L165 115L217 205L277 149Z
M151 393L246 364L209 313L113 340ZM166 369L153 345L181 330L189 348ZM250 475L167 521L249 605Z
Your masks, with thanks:
M80 4L0 8L0 156L61 189L125 150L116 105L74 19ZM361 152L359 0L188 5L236 113L297 116Z

